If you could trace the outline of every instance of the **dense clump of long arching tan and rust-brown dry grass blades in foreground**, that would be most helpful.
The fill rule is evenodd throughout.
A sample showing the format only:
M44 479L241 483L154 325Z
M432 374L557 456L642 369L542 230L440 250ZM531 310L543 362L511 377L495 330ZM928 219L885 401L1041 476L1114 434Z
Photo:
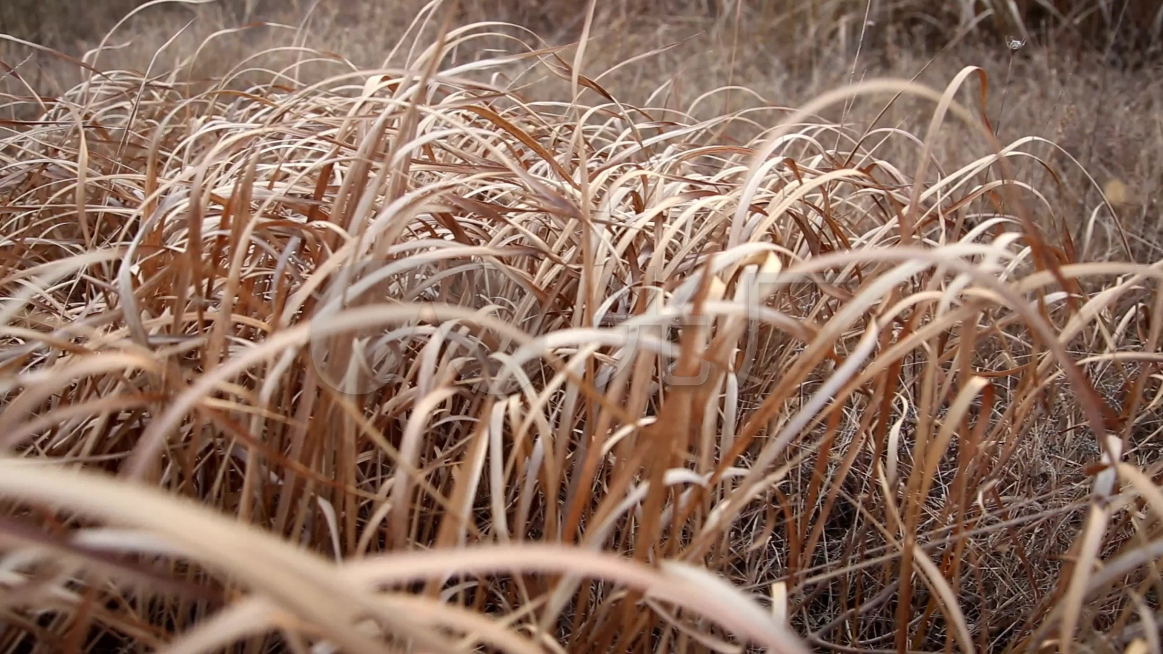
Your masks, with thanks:
M3 652L1160 651L1163 263L978 69L437 33L9 71Z

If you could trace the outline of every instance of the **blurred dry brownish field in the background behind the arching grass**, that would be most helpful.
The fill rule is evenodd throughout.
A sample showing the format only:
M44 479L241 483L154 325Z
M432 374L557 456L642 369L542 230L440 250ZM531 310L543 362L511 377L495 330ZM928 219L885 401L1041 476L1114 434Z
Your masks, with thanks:
M79 56L138 3L10 1L0 8L0 30ZM966 3L668 0L658 5L621 0L602 3L591 34L590 57L594 70L606 71L652 52L602 78L604 87L628 102L657 97L672 106L685 106L726 85L749 90L704 102L707 115L732 108L733 101L794 107L825 90L875 77L915 77L923 84L943 86L963 66L980 66L989 76L986 113L997 123L999 137L1051 141L1061 151L1046 145L1039 155L1069 176L1066 185L1087 189L1082 198L1063 198L1062 206L1073 200L1071 209L1084 212L1093 199L1091 185L1069 161L1073 157L1101 187L1113 191L1135 254L1148 258L1158 255L1163 226L1154 216L1163 184L1163 59L1158 57L1163 24L1157 23L1163 14L1153 9L1151 2L1139 0L1059 1L1056 10L1078 23L1068 29L1054 22L1053 15L1035 10L1037 2L1019 3L1023 15L1020 24L991 2L969 2L977 17L968 28L964 15L975 14L962 5ZM101 61L109 67L144 70L157 49L169 42L155 62L155 66L164 66L188 54L207 35L248 24L245 21L285 26L254 27L215 38L214 47L193 65L197 78L208 78L263 49L285 47L287 28L306 20L306 44L342 55L358 66L376 66L422 6L418 0L163 3L122 27L109 42L120 48L102 54ZM716 9L708 12L708 6ZM457 23L511 21L552 44L576 40L584 16L565 2L480 0L458 7ZM194 22L187 24L191 20ZM436 28L427 26L428 31ZM1012 52L1007 43L1023 37L1027 44ZM43 52L26 62L31 54L27 49L5 47L5 61L24 62L24 77L50 95L77 79L73 65L62 65ZM398 50L397 56L407 52ZM290 55L281 58L283 63L292 59ZM280 59L267 56L262 61L263 66L271 66ZM544 77L556 80L551 74ZM976 92L966 91L963 99ZM907 101L884 115L882 109L878 102L859 102L828 118L864 127L879 116L879 126L900 126L920 120L925 111L923 105ZM942 149L939 154L971 147L962 134L948 136L937 144ZM1051 193L1056 186L1039 184Z

